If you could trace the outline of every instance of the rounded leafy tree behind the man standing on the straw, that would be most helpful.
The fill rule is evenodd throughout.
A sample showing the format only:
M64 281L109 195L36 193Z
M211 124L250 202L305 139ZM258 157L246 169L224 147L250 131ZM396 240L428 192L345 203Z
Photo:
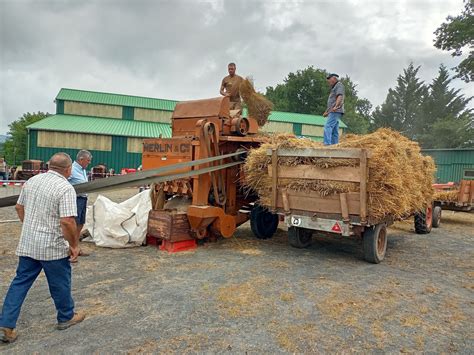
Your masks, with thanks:
M309 66L289 73L283 84L267 87L265 96L273 102L277 111L322 115L326 110L329 86L328 72ZM346 89L344 101L344 123L352 133L366 133L369 128L369 114L372 105L367 99L357 96L356 85L346 76L341 79Z

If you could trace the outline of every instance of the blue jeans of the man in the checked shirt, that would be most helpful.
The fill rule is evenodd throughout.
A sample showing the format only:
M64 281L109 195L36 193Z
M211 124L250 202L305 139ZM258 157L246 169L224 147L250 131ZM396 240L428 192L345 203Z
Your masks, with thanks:
M16 276L8 289L0 315L0 327L16 328L21 306L26 294L41 270L48 280L49 292L58 311L58 323L67 322L74 316L74 300L71 295L71 263L69 258L39 261L20 256Z

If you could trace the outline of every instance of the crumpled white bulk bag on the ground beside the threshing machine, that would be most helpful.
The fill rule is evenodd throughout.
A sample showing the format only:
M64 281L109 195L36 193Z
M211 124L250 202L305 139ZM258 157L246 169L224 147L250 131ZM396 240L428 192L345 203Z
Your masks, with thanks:
M145 190L122 203L99 195L87 208L86 228L97 246L129 248L142 245L146 237L150 190ZM90 239L90 238L88 238Z

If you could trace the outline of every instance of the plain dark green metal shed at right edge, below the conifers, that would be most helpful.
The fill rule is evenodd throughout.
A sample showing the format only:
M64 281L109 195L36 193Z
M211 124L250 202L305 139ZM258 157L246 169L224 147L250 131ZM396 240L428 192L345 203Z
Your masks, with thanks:
M436 182L474 180L474 149L423 149L436 164Z

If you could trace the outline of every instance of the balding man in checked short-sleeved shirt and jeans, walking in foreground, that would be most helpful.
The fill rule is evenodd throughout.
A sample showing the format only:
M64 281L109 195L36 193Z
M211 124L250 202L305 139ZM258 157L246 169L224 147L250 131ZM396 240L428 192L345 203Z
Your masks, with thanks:
M8 289L0 315L0 341L17 339L16 323L30 287L44 271L57 310L57 329L82 322L84 314L74 312L71 295L71 264L79 254L76 233L76 192L67 178L72 160L57 153L49 160L49 171L29 179L16 204L23 222L16 255L16 276Z

